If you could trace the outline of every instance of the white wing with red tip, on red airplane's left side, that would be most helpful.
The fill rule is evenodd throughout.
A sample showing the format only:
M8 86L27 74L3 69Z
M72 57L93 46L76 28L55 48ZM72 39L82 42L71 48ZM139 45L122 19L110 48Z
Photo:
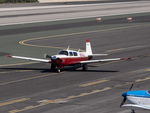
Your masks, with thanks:
M38 62L45 62L45 63L51 63L51 60L47 60L47 59L30 58L30 57L22 57L22 56L11 56L11 55L8 55L8 57L17 58L17 59L24 59L24 60L31 60L31 61L38 61Z

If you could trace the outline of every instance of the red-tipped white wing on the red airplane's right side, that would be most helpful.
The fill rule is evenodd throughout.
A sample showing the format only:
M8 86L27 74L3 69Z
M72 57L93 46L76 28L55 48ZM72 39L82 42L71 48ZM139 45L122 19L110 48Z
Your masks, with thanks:
M111 62L111 61L119 61L119 60L128 60L131 58L111 58L111 59L100 59L100 60L87 60L81 61L81 64L88 64L88 63L98 63L98 62Z

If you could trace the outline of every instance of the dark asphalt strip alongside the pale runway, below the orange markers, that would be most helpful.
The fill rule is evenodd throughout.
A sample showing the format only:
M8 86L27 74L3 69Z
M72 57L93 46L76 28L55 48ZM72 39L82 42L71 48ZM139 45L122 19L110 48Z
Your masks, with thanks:
M78 27L82 28L82 27L101 26L101 25L103 26L103 25L110 25L110 24L127 24L130 22L134 22L134 23L150 22L150 15L132 17L131 21L128 21L127 18L125 17L107 19L107 20L102 20L102 21L97 21L95 18L93 18L91 20L85 20L81 22L69 22L69 23L63 23L63 24L56 23L53 25L40 25L40 26L29 26L29 27L23 27L23 28L11 28L11 29L0 30L0 35L1 36L16 35L16 34L40 32L40 31L61 30L61 29L70 29L70 28L78 28Z

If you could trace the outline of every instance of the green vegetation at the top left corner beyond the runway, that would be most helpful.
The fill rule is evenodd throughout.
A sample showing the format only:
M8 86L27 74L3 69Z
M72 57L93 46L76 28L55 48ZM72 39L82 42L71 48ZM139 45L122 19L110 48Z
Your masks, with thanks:
M0 0L0 3L33 3L38 0Z

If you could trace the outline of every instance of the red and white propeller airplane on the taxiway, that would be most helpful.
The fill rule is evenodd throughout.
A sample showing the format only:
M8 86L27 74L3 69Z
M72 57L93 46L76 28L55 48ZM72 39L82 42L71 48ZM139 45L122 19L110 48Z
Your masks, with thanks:
M130 58L111 58L111 59L92 60L94 56L106 56L106 55L107 54L93 54L91 49L91 43L89 40L86 40L85 52L80 52L80 50L74 51L67 48L66 50L60 51L57 55L53 56L45 55L45 59L11 56L11 55L8 55L8 57L51 63L51 70L57 72L60 72L61 69L64 68L64 66L78 66L82 67L83 70L87 70L88 69L87 64L89 63L110 62L110 61L130 59Z

